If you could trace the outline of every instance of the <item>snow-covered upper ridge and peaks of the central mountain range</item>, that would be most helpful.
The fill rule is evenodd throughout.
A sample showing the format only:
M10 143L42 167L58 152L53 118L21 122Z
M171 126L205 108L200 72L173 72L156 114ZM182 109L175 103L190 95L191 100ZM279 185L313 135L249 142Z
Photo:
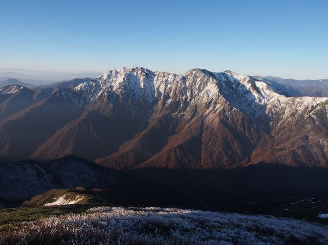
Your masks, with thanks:
M285 108L288 113L302 111L328 100L327 97L291 98L264 80L229 70L210 72L191 69L179 75L142 67L120 68L106 71L74 90L87 102L95 101L101 95L111 100L122 100L128 96L132 103L165 101L170 104L179 101L181 110L178 111L185 111L192 103L210 103L213 109L222 95L253 119L263 112L269 114L279 108Z

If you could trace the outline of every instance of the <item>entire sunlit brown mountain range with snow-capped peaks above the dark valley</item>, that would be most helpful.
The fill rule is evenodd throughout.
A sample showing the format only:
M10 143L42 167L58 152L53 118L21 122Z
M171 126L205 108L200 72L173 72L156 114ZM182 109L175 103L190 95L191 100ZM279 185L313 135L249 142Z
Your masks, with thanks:
M74 154L105 167L327 167L328 98L232 71L121 68L75 88L0 89L1 160Z

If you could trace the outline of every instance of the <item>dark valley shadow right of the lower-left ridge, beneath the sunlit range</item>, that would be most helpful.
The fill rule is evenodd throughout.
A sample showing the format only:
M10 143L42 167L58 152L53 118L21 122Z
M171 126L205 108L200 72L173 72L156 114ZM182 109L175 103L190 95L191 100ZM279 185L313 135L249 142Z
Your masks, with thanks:
M259 164L237 169L133 169L127 173L177 189L210 210L254 200L328 197L328 169Z

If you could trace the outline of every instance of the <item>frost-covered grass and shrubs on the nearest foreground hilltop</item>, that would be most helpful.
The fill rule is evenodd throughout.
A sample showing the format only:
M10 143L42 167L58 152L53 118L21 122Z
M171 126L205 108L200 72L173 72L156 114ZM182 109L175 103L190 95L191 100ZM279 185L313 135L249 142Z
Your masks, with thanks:
M272 216L96 207L0 231L17 244L328 244L328 226Z

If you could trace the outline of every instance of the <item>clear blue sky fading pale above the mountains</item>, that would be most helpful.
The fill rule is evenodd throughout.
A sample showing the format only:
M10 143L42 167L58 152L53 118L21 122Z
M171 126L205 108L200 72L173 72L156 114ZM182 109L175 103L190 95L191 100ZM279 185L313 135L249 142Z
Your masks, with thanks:
M328 78L328 1L2 1L0 68Z

